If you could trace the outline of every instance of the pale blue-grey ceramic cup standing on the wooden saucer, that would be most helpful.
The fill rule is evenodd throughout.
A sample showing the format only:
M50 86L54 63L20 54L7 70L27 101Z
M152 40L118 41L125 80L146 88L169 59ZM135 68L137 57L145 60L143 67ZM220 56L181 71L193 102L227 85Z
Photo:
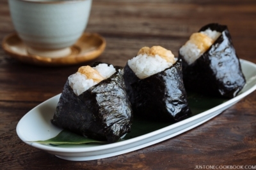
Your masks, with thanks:
M86 29L92 0L8 0L12 22L28 53L65 57Z

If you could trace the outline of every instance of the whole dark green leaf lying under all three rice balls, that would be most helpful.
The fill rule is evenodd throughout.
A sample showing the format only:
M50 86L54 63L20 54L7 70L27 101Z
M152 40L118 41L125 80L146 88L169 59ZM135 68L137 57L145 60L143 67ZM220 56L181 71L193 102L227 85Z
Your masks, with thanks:
M193 92L188 92L188 103L193 113L189 117L193 117L198 113L202 113L203 111L209 110L215 106L218 106L219 104L224 103L225 101L227 101L227 99L222 99L220 97L207 97L207 96L202 96L200 94L196 94ZM126 134L124 139L121 139L121 141L136 138L143 134L156 131L168 125L172 125L173 123L175 122L164 123L164 122L154 122L154 121L144 120L143 118L139 118L136 115L134 115L131 132ZM54 138L47 139L45 141L33 141L33 142L49 144L49 145L64 145L64 144L77 145L77 144L84 144L84 143L106 143L104 141L97 141L94 139L85 138L83 136L74 134L66 130L61 131L60 134L58 134Z

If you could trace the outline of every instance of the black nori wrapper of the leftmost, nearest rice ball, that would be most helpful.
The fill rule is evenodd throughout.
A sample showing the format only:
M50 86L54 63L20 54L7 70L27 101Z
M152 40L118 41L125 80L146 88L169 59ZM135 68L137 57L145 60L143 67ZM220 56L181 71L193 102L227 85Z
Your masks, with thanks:
M92 64L92 67L101 62ZM65 83L52 124L88 138L113 143L131 131L132 110L123 78L124 69L76 96Z

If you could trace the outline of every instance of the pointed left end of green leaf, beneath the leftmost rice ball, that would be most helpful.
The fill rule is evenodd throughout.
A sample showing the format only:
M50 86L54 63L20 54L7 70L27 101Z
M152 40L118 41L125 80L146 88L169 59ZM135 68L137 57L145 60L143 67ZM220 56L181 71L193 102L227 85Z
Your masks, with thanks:
M57 136L45 141L33 141L35 143L49 144L49 145L64 145L64 144L84 144L84 143L106 143L105 141L97 141L95 139L85 138L73 132L63 130Z

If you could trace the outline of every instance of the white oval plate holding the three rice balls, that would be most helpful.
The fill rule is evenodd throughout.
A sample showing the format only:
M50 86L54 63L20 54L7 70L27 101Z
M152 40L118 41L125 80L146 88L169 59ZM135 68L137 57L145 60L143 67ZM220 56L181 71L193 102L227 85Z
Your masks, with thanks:
M50 121L60 99L60 94L39 104L24 115L17 125L17 134L19 138L28 145L45 150L46 152L65 160L81 161L103 159L139 150L166 139L170 139L173 136L177 136L182 132L186 132L189 129L193 129L196 126L203 124L207 120L220 114L223 110L236 104L243 97L252 93L253 90L256 89L256 64L241 60L241 66L244 76L246 77L246 85L238 96L225 101L225 103L219 104L218 106L214 106L209 110L202 111L202 113L198 113L186 120L166 125L156 131L147 132L140 136L128 138L117 143L51 146L29 142L53 138L62 130L52 125ZM134 129L136 129L136 127L134 127Z

